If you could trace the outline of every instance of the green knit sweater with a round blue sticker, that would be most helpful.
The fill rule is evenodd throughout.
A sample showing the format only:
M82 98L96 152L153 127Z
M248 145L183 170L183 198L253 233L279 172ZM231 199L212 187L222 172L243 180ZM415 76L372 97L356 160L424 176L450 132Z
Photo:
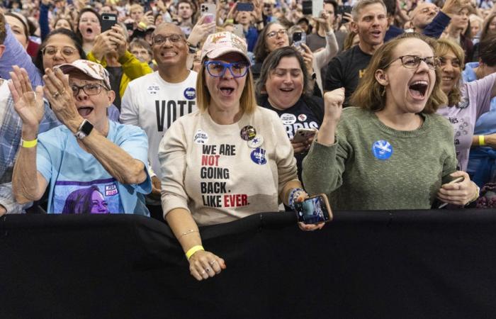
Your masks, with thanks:
M422 116L420 128L401 131L371 111L344 108L334 145L313 142L303 160L306 191L327 194L337 210L431 208L456 154L450 123Z

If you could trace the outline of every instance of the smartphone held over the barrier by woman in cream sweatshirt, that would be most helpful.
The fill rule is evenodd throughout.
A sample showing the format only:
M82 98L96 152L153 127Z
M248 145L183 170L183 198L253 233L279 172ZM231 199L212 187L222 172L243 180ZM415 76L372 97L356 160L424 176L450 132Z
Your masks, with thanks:
M296 216L304 224L328 223L332 220L332 211L325 194L318 194L295 203Z

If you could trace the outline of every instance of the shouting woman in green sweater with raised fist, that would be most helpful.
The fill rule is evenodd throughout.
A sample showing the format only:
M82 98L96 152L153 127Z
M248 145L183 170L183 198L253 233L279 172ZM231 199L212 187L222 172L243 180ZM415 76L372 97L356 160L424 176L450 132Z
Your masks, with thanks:
M431 208L437 197L466 205L478 189L456 172L453 129L436 115L440 89L435 42L405 33L373 55L352 105L344 89L325 94L325 116L303 161L308 194L326 193L338 210ZM341 118L339 120L339 118ZM453 177L464 177L447 184Z

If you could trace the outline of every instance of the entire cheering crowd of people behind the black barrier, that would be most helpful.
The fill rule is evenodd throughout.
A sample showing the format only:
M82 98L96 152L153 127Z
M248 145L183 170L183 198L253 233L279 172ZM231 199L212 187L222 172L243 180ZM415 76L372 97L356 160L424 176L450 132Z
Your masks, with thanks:
M495 207L492 1L305 7L2 1L0 216L165 220L202 280L226 263L199 227L308 195Z

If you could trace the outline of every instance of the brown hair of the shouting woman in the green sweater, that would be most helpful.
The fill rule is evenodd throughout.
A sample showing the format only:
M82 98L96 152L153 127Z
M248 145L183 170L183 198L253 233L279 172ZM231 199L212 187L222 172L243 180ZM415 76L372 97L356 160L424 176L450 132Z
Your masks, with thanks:
M435 51L436 40L428 38L419 33L403 33L397 38L388 41L378 48L373 54L371 62L369 63L359 86L351 96L351 105L366 108L370 111L381 111L385 107L386 96L383 93L384 87L377 82L376 71L378 69L385 69L394 60L393 51L405 39L415 38L424 41L432 50ZM427 103L425 104L422 113L431 114L435 113L439 106L446 105L446 94L441 90L441 76L439 69L436 69L436 82Z

